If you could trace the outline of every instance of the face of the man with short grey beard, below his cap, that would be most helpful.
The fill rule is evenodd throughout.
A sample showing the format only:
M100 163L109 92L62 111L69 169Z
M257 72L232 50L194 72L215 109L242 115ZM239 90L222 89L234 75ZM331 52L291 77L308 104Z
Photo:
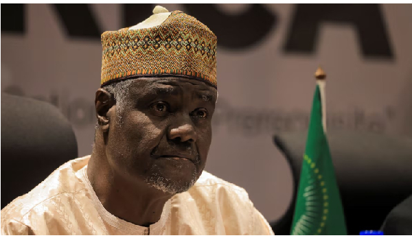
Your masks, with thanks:
M167 193L187 191L205 168L217 91L185 78L133 80L117 117L108 110L106 155L116 174Z

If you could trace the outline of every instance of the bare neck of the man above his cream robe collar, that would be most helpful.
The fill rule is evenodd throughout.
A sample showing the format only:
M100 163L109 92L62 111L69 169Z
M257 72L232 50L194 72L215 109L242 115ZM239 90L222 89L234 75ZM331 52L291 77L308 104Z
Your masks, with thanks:
M94 149L87 176L104 208L116 217L139 226L158 222L163 206L172 194L149 187L145 182L130 182L116 175L109 167L106 155L96 152L98 148Z

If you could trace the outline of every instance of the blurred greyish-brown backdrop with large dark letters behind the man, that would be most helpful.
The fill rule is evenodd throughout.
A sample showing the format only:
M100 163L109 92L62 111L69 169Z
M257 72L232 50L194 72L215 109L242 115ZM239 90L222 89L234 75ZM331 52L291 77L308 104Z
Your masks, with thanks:
M244 187L268 221L292 176L277 132L308 129L319 64L328 128L412 136L412 5L163 4L218 36L219 99L207 171ZM56 105L91 154L100 34L135 25L155 4L2 4L1 91Z

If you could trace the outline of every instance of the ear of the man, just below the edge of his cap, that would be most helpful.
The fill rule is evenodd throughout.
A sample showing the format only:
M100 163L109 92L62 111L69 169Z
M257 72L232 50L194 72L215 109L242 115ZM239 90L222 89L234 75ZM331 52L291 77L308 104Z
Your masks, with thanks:
M103 88L99 88L96 92L95 107L96 117L103 132L108 132L108 125L110 119L108 117L108 110L115 104L115 100L110 93Z

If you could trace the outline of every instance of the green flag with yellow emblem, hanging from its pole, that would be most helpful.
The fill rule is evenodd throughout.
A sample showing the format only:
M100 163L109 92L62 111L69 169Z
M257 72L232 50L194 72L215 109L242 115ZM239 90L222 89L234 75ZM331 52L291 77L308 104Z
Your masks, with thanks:
M323 130L321 90L323 88L317 84L291 235L347 235L328 140Z

